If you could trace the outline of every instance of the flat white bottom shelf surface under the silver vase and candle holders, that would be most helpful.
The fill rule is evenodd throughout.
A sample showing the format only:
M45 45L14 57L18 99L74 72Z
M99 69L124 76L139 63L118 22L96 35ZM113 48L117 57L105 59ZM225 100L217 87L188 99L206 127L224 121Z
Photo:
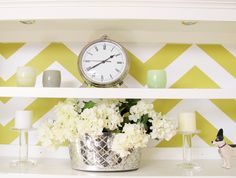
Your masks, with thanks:
M0 157L0 177L19 178L19 177L47 177L47 178L70 178L79 176L89 177L166 177L166 176L236 176L236 160L232 162L229 170L221 168L221 160L196 160L201 166L201 170L190 171L178 168L179 160L142 160L141 166L136 171L114 172L114 173L94 173L72 170L68 159L40 159L37 166L29 169L16 169L9 166L12 158Z

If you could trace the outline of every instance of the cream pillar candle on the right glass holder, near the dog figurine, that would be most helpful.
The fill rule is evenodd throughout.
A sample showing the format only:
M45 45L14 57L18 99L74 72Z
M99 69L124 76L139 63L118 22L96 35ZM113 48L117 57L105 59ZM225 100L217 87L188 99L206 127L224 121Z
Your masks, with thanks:
M182 132L196 131L195 112L184 112L179 114L179 130Z

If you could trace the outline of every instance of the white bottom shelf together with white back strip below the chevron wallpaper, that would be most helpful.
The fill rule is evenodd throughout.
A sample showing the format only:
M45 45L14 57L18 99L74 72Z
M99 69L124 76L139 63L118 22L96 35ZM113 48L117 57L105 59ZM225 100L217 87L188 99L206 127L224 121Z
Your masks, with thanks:
M225 170L221 167L222 160L217 148L193 148L194 162L201 166L200 171L183 170L177 164L182 161L181 148L145 148L142 150L140 169L131 172L94 173L76 171L70 167L69 151L67 147L57 150L47 150L40 146L29 147L29 157L37 161L37 166L28 169L10 167L11 160L18 156L16 145L0 145L0 177L4 178L166 178L181 176L215 176L222 178L236 176L236 160L232 160L232 168Z

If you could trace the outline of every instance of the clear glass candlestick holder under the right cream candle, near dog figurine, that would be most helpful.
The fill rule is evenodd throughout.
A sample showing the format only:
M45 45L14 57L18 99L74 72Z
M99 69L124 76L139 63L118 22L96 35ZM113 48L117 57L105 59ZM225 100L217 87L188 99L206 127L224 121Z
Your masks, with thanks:
M199 169L200 166L192 161L192 135L200 133L196 131L179 131L183 137L183 162L178 164L183 169Z

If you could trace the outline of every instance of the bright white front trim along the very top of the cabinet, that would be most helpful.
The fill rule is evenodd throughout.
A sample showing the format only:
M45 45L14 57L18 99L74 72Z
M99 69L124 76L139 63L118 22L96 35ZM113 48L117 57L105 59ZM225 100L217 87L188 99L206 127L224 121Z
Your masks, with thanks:
M0 19L236 21L235 0L0 0Z

